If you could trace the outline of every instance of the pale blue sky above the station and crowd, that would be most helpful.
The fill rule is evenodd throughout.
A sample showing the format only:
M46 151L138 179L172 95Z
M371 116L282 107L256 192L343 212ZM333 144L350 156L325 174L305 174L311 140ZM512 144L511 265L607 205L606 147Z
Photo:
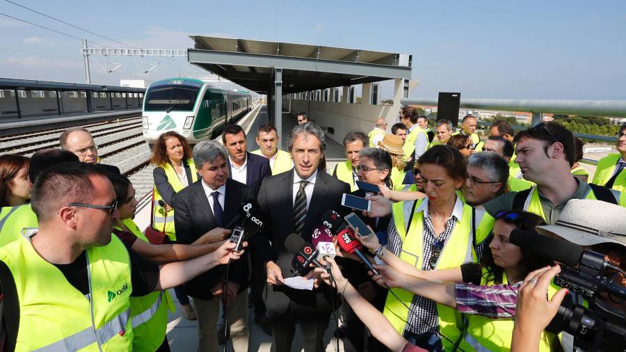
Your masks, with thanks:
M205 34L412 54L414 97L626 99L626 1L12 1L136 47ZM3 0L0 13L123 47ZM84 81L79 40L1 15L0 31L0 77ZM139 59L109 58L124 72L108 76L95 60L93 83L141 78ZM175 60L146 78L200 70Z

